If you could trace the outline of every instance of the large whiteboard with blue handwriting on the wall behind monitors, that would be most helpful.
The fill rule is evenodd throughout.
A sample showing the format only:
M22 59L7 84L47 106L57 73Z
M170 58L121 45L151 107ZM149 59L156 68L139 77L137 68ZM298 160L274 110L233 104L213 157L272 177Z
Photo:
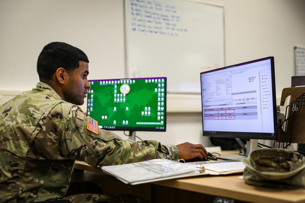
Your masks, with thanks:
M200 72L224 66L224 9L182 0L126 0L126 76L167 77L200 93Z

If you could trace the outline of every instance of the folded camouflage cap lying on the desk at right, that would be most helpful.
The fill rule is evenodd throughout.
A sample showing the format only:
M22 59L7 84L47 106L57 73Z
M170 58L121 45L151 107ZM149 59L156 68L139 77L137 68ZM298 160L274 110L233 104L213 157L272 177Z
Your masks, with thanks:
M305 189L305 157L287 149L257 149L244 159L243 179L263 187Z

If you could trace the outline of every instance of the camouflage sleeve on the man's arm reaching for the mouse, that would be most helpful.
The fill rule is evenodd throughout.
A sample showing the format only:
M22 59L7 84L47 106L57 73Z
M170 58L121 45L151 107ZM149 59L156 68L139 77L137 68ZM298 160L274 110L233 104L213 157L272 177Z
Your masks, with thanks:
M84 161L91 166L118 165L170 156L178 159L175 145L161 145L154 140L134 142L103 129L88 129L88 118L82 110L71 108L63 130L62 156Z

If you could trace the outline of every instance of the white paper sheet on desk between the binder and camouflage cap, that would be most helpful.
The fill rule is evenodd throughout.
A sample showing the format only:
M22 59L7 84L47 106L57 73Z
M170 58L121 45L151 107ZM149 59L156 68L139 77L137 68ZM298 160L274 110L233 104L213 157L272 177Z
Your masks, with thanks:
M203 166L206 170L211 170L216 172L244 170L246 167L246 165L241 161L223 162L223 163L206 163L203 164ZM200 165L197 165L197 167L200 167Z

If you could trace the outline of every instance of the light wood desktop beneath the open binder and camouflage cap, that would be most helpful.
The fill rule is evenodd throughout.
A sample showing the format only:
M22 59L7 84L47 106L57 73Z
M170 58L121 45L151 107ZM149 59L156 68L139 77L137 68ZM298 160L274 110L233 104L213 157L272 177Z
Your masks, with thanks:
M74 168L95 173L107 174L101 170L101 167L90 166L87 163L81 161L76 161ZM266 200L265 202L268 203L305 202L305 190L250 186L247 185L242 179L240 179L240 176L242 176L242 173L236 175L232 174L220 176L206 175L204 177L163 180L152 182L151 184L194 191L202 194L210 194L214 196L225 196L227 198L232 198L240 201L261 202L263 198ZM217 180L219 178L221 185L217 184ZM202 183L202 180L204 180L205 184Z

